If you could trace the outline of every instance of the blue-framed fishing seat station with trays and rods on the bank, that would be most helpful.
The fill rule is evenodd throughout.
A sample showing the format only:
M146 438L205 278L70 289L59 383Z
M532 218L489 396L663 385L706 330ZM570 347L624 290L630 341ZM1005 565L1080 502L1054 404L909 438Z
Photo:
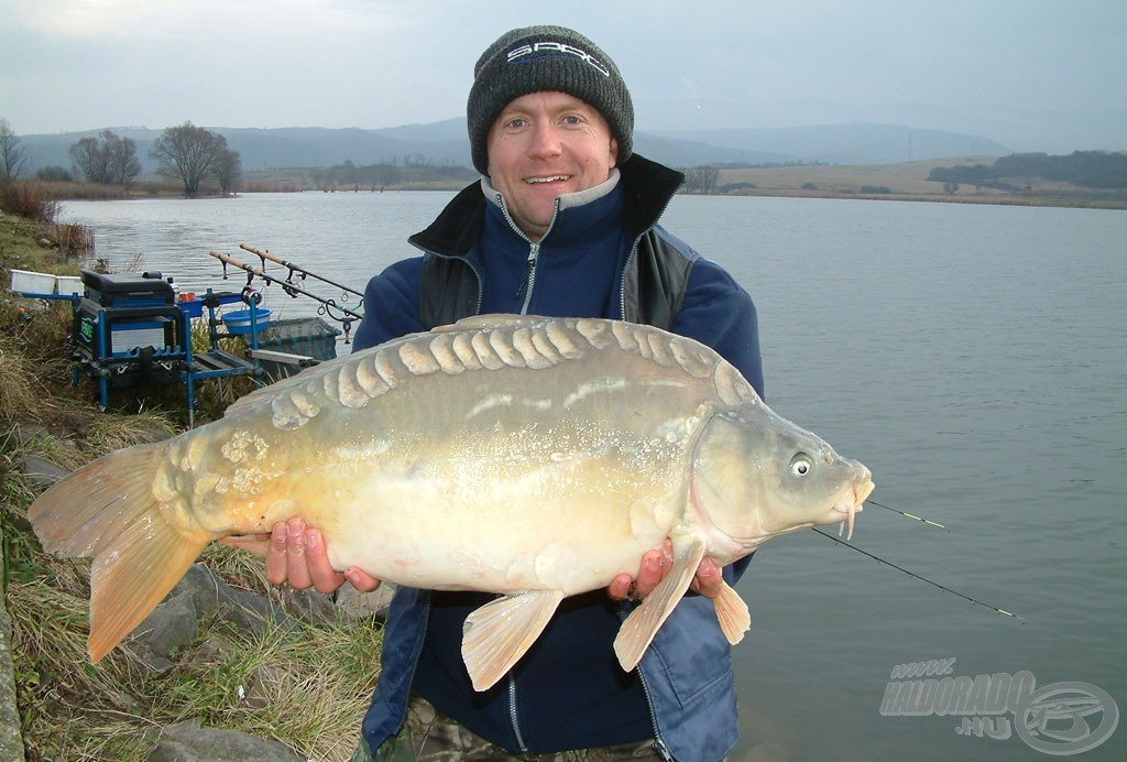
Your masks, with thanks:
M11 291L26 299L71 302L73 382L78 384L83 376L94 380L103 410L109 407L113 389L133 388L145 393L156 386L183 383L192 425L198 383L250 376L261 386L331 360L337 337L344 333L347 343L352 324L363 317L357 311L363 304L360 292L265 249L242 248L257 255L261 266L210 252L223 263L224 280L229 266L247 273L247 283L239 291L180 293L175 278L159 272L108 274L90 269L80 271L79 277L12 271ZM285 275L267 273L267 260L285 267ZM308 278L343 290L341 296L316 294L299 283ZM272 311L261 307L258 284L279 284L289 296L316 300L320 303L318 314L341 324L343 331L321 317L272 319ZM358 298L356 309L340 304L353 296ZM201 322L204 328L194 331L193 326ZM243 351L221 344L230 338L241 339Z

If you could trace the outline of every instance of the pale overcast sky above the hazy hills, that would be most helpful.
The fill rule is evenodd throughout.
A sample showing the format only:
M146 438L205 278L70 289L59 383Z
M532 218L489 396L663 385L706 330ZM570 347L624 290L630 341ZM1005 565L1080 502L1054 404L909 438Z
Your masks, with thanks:
M562 24L637 126L897 123L1014 150L1127 150L1127 0L0 0L0 117L385 127L464 114L503 32Z

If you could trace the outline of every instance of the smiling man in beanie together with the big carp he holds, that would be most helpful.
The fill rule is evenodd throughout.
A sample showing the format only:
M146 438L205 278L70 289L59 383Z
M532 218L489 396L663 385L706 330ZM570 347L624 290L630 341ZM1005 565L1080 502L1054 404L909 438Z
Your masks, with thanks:
M633 154L594 43L503 35L467 112L483 177L369 283L352 354L28 520L92 558L94 662L215 540L275 583L396 583L356 760L721 759L731 585L774 537L852 530L872 475L764 405L752 301L657 225L683 177Z

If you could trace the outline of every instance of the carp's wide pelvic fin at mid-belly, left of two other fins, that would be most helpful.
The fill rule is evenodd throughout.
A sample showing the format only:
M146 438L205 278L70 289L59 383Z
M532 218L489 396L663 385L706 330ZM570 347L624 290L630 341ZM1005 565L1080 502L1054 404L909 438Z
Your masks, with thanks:
M543 632L564 597L559 590L514 593L465 618L462 661L473 690L489 689L513 668Z

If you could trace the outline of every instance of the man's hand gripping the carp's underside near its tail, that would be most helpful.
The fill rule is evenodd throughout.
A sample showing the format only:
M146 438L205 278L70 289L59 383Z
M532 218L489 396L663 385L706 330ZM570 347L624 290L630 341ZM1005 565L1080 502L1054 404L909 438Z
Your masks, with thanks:
M313 587L320 593L331 593L345 581L363 593L380 586L379 579L355 566L344 573L334 569L321 531L298 516L278 522L269 534L229 537L223 542L265 556L266 579L275 585L289 583L295 590Z

